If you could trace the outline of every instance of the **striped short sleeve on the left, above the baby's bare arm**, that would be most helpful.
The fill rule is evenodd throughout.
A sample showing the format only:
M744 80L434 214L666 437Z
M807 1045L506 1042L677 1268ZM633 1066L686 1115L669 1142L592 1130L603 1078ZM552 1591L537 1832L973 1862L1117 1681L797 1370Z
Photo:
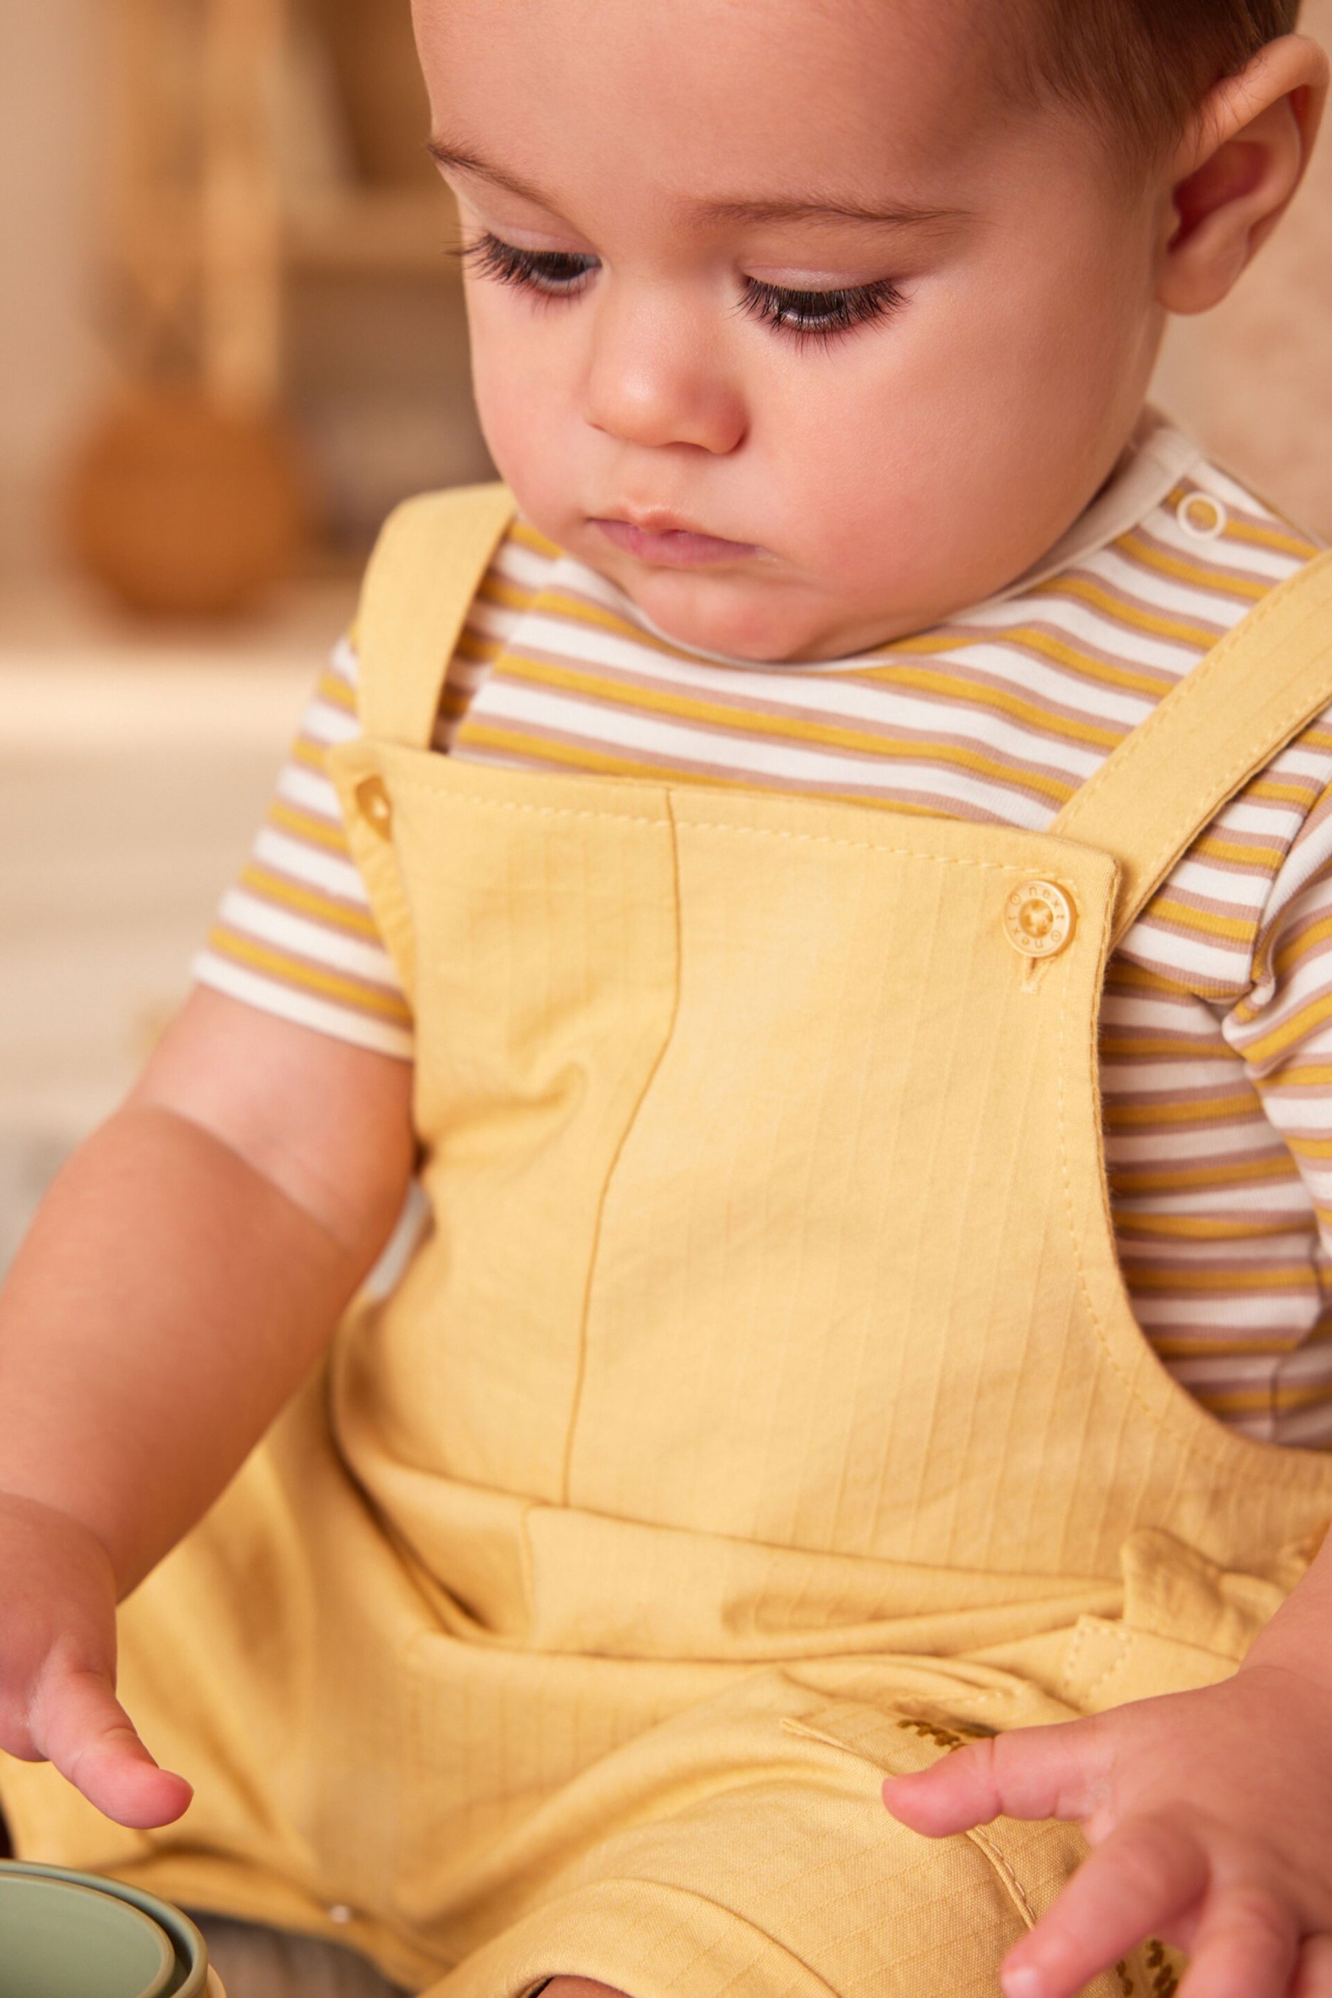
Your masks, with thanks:
M341 641L320 675L268 817L224 895L198 985L316 1033L411 1061L411 1011L351 859L328 775L333 743L359 735L357 665Z

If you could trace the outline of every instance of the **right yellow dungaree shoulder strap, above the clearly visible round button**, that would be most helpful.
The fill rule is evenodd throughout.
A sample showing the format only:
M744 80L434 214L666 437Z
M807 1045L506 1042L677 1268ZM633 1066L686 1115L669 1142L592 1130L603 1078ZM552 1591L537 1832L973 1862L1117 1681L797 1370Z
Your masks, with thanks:
M1114 943L1220 807L1330 703L1332 551L1228 631L1050 827L1118 859Z

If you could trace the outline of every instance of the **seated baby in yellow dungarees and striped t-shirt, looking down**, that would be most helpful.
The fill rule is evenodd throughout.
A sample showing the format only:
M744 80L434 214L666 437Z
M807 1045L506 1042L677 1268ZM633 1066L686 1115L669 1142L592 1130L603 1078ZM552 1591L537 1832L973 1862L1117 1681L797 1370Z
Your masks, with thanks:
M419 0L507 490L6 1287L24 1854L449 1998L1332 1994L1332 569L1144 412L1294 26Z

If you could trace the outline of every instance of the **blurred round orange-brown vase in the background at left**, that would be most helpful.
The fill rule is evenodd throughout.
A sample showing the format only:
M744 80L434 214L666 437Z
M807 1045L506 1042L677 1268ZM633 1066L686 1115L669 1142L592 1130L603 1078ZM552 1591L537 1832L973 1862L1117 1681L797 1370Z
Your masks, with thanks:
M68 529L80 565L122 603L178 617L244 609L288 575L306 482L278 422L198 392L140 394L78 452Z

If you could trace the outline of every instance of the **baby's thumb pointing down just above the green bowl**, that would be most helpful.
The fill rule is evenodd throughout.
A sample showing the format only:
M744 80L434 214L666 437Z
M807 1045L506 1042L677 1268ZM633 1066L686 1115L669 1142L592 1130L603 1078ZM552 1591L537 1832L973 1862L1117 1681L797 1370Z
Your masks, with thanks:
M50 1670L32 1734L46 1760L118 1824L172 1824L190 1804L190 1784L158 1768L104 1672Z

